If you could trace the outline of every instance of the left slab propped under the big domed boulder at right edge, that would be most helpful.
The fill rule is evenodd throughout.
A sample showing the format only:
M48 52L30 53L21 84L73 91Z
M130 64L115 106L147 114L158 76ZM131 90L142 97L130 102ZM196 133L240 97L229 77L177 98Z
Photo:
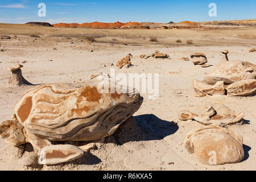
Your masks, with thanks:
M211 96L225 94L223 81L218 81L215 85L209 85L204 81L193 80L193 88L196 93L207 93Z

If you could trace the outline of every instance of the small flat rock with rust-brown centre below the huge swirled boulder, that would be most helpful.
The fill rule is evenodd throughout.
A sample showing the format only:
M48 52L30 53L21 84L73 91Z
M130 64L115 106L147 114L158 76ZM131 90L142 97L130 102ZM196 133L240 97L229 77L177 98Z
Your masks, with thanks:
M40 152L39 164L53 165L69 162L84 155L81 148L71 144L47 146Z

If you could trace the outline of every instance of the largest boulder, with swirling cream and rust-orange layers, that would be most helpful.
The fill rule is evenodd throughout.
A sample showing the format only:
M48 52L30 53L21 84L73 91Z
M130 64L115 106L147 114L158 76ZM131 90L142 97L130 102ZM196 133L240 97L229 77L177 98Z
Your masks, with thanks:
M26 133L39 139L98 140L112 135L143 102L134 88L118 89L109 81L39 85L14 110Z

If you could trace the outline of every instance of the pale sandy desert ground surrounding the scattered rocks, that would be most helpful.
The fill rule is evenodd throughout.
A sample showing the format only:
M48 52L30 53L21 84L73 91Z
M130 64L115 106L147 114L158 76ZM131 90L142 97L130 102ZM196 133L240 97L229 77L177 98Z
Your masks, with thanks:
M208 63L220 61L220 51L229 50L230 60L243 60L256 64L256 29L234 28L225 30L86 30L82 28L55 28L30 25L0 24L0 118L11 119L14 104L32 86L9 88L9 68L26 60L23 76L33 84L51 82L86 81L90 75L110 69L116 73L159 73L159 98L148 100L134 114L138 126L133 125L131 137L125 142L113 142L109 137L97 144L91 154L75 162L55 166L24 167L18 164L18 148L0 139L0 170L255 170L256 169L256 96L226 97L193 96L192 80L203 80L212 67L201 68L181 57L203 52ZM40 38L31 37L39 35ZM96 41L86 44L85 36ZM150 42L155 36L158 42ZM182 43L176 43L181 39ZM193 44L187 45L186 40ZM83 40L81 42L81 40ZM127 44L127 45L125 45ZM55 47L56 50L52 48ZM93 50L93 52L90 52ZM167 53L170 59L140 59L142 54L155 50ZM134 67L118 69L115 64L128 53L133 55ZM52 60L52 61L48 61ZM114 66L110 66L113 63ZM102 68L101 64L106 67ZM212 105L219 112L244 112L242 123L229 126L243 137L245 158L237 164L205 166L188 154L183 146L188 131L199 127L195 121L179 121L181 110L196 113ZM177 125L174 125L174 122ZM125 133L123 130L122 132ZM138 137L143 134L144 137ZM27 146L29 150L29 146Z

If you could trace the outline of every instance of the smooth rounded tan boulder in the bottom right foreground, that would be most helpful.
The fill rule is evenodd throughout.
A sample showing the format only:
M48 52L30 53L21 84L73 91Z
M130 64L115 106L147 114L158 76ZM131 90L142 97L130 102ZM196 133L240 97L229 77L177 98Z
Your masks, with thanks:
M244 157L243 139L234 131L217 126L205 126L190 131L184 141L189 154L195 153L202 164L238 163Z

